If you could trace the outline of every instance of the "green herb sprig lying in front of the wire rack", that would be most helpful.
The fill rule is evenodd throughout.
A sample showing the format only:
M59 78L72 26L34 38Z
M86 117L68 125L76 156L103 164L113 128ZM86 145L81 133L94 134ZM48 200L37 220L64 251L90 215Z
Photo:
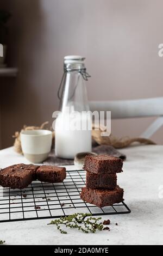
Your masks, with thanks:
M48 225L56 225L61 234L67 234L65 230L61 229L61 225L66 228L77 228L84 233L95 233L103 229L102 222L98 223L101 218L93 218L91 214L73 214L67 217L60 217L57 220L51 221Z

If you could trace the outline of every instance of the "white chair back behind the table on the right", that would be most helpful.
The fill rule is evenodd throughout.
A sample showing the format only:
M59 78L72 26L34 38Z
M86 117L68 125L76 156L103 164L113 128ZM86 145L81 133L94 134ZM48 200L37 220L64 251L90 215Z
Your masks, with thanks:
M90 110L111 111L112 119L158 117L140 137L150 138L163 125L163 97L139 100L90 101Z

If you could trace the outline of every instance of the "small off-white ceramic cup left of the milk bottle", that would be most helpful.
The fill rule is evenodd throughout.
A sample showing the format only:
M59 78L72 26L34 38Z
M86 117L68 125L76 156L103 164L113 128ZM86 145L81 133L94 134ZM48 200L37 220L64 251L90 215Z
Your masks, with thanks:
M21 132L21 146L26 159L41 163L47 159L52 147L52 131L27 130Z

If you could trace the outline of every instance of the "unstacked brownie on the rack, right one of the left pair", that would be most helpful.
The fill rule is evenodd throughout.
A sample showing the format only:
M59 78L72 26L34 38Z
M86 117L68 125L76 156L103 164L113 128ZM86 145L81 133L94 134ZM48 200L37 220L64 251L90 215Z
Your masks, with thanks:
M44 182L62 182L66 178L66 168L58 166L40 166L36 171L37 179Z

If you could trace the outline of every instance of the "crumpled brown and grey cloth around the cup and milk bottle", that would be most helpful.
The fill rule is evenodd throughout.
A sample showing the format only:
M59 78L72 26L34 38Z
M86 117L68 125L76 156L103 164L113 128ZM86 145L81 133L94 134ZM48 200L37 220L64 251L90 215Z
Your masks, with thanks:
M43 123L41 126L26 126L24 125L24 130L37 130L37 129L46 129L45 126L48 124L48 122ZM126 156L121 154L117 149L120 148L126 148L129 147L131 144L137 142L140 144L155 144L150 139L146 138L129 138L129 137L123 137L123 138L117 138L115 136L107 136L102 137L101 136L101 130L95 130L95 126L92 127L92 151L97 154L109 154L112 156L120 157L122 160L126 159ZM20 139L20 132L15 132L15 135L13 136L15 138L14 142L14 149L17 153L22 153L21 148L21 139ZM55 134L53 131L53 145L54 145L54 138ZM43 162L43 164L50 164L50 165L71 165L73 164L73 160L69 159L60 159L59 157L55 156L55 150L52 149L51 153L49 154L49 157L46 161Z

